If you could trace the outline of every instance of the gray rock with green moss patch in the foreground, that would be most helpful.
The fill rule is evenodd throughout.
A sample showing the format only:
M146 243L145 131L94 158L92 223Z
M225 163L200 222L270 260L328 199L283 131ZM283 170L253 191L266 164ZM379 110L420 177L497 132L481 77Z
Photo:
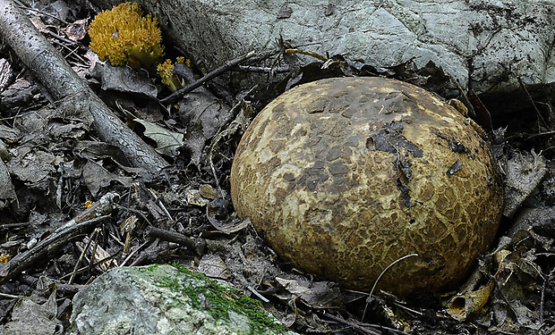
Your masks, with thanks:
M226 290L170 265L115 268L75 295L69 334L295 334L258 305L236 308L241 294Z

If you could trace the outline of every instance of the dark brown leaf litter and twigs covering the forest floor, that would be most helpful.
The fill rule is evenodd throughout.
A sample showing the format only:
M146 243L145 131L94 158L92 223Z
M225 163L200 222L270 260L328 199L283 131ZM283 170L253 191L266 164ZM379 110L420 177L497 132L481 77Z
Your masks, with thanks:
M44 16L35 21L46 21L42 29L54 29L76 43L76 52L61 50L74 69L171 165L156 177L133 168L119 149L98 140L90 113L80 108L80 96L52 101L30 71L0 46L0 252L5 257L0 260L25 255L67 222L80 222L90 203L107 194L119 198L97 230L59 243L31 259L25 273L3 281L4 331L30 331L25 320L33 319L45 325L34 333L59 333L69 326L73 294L102 272L114 266L172 262L233 282L300 333L555 331L553 139L535 136L537 124L503 122L499 111L488 111L475 102L476 96L467 99L474 101L471 110L481 115L476 121L485 120L484 129L491 129L492 121L510 130L492 137L497 155L503 157L511 204L497 245L482 256L459 292L414 301L387 292L370 297L280 263L250 222L236 217L227 180L235 147L253 114L303 82L380 75L407 80L445 98L461 98L457 83L433 63L423 69L410 61L377 67L342 55L287 54L278 43L282 53L276 61L289 72L253 88L226 88L234 92L231 100L209 89L225 87L217 78L174 105L160 105L157 99L167 92L159 81L147 71L98 63L84 42L83 18L90 13L77 4L57 3L70 9L63 19L73 23L59 26L60 21ZM300 65L299 57L315 61ZM465 102L465 96L461 100ZM548 116L548 124L540 125L543 132L553 125ZM95 255L91 246L97 246Z

